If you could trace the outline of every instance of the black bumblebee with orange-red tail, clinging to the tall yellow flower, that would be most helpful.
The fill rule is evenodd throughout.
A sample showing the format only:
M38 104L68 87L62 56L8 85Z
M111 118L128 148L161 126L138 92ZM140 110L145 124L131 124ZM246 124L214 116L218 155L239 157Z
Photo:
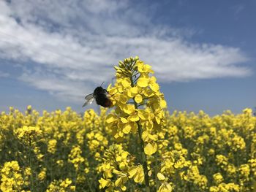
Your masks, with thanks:
M102 107L112 106L112 101L110 100L108 91L102 88L102 85L95 88L94 93L87 95L85 99L86 99L86 102L83 104L83 107L85 107L87 104L91 104L94 101L94 99L96 100L96 103Z

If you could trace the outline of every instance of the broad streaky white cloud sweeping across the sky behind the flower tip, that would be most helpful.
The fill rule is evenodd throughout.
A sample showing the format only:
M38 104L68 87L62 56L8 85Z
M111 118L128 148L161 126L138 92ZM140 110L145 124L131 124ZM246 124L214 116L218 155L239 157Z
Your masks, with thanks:
M72 101L130 55L162 82L250 74L239 48L190 43L193 30L154 25L147 11L117 0L0 1L0 57L29 63L19 80Z

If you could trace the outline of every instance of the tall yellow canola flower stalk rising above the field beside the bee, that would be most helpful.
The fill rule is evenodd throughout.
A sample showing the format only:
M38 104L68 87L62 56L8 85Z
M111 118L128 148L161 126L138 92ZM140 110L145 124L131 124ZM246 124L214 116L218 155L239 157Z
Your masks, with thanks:
M157 128L164 118L162 109L166 102L159 92L156 77L152 76L151 66L138 57L120 61L115 69L116 83L114 87L109 86L108 92L116 108L107 116L106 128L116 139L124 139L127 134L138 135L140 164L133 162L133 166L123 171L135 183L145 183L146 192L149 192L147 155L157 153ZM115 185L117 183L119 180Z

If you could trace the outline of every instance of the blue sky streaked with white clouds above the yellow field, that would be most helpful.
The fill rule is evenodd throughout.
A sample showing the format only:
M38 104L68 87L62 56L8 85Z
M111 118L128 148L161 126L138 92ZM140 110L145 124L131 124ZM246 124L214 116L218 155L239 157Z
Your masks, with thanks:
M119 60L155 71L168 108L256 107L256 1L0 0L0 111L83 112Z

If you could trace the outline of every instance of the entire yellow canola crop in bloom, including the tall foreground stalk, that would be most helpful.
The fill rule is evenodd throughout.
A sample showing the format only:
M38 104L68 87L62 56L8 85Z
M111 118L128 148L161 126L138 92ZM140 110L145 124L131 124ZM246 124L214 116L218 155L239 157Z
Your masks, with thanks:
M256 191L251 109L170 114L151 66L115 69L99 114L1 112L1 191Z

